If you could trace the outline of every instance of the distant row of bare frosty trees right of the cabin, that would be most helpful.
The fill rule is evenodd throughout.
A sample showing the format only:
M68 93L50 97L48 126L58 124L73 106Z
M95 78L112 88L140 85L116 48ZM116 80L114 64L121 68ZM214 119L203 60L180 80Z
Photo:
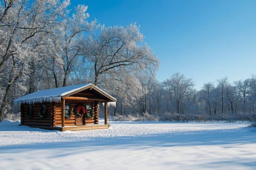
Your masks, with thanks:
M233 83L230 83L227 77L216 79L215 82L205 83L199 91L195 90L193 79L186 78L180 73L173 74L163 82L158 82L152 77L143 77L141 82L147 93L133 106L126 107L119 102L116 108L118 114L149 113L155 116L168 116L178 113L214 117L224 114L256 113L254 75ZM121 98L119 100L122 101Z

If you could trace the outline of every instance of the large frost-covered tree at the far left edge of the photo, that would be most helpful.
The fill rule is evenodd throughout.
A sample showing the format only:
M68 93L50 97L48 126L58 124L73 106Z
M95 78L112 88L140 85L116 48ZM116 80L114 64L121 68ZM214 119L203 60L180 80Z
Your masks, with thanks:
M48 34L68 4L69 1L58 0L0 2L0 73L9 75L1 80L4 95L0 121L12 87L30 73L31 61L38 57L38 52L33 51L35 43L41 35Z

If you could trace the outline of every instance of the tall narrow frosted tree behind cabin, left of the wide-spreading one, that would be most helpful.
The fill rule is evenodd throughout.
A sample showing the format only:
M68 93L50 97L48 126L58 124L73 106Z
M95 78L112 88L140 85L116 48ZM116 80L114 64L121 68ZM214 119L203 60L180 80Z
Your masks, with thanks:
M86 12L87 6L79 5L76 7L72 17L69 16L69 11L64 14L64 19L59 24L58 36L61 38L58 45L61 46L63 63L63 86L67 84L67 78L72 72L79 72L84 66L82 56L82 41L85 32L93 30L97 27L96 20L88 22L89 14Z

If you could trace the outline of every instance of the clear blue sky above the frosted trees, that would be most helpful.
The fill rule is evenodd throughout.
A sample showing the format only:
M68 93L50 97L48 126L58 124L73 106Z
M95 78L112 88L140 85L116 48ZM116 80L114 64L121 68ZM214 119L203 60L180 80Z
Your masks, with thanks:
M157 79L179 71L205 82L256 74L256 0L71 0L105 26L137 22L160 60Z

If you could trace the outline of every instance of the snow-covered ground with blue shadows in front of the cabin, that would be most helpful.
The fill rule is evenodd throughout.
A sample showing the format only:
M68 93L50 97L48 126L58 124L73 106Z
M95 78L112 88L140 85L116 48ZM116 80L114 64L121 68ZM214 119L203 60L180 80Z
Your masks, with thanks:
M255 170L256 128L244 123L112 122L59 132L0 122L0 169Z

